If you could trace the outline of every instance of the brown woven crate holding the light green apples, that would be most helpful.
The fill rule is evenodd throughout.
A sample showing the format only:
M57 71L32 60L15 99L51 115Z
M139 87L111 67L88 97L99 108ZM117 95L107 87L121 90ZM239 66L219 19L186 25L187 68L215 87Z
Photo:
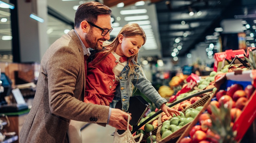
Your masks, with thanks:
M212 97L213 97L213 92L210 92L209 94L205 95L203 98L201 98L200 100L198 100L197 102L191 104L190 106L188 106L187 108L183 109L181 112L185 114L186 110L189 108L193 108L195 109L198 106L203 106L203 109L199 112L199 114L202 113L202 111L204 111L206 109L206 107L208 106L208 103L211 101ZM205 109L204 109L205 108ZM198 118L198 115L196 116L196 118ZM195 118L195 119L196 119ZM195 120L194 119L194 120ZM170 120L170 119L169 119ZM193 120L193 121L194 121ZM191 122L193 122L191 121ZM189 124L191 124L191 122L187 123L186 125L182 126L179 130L173 132L171 135L166 136L165 138L161 139L161 135L160 135L160 129L162 127L162 124L158 127L158 132L157 132L157 142L159 143L164 143L164 142L168 142L175 138L178 138L179 136L181 136L181 134L187 129L187 127L189 126ZM176 140L174 140L175 142Z

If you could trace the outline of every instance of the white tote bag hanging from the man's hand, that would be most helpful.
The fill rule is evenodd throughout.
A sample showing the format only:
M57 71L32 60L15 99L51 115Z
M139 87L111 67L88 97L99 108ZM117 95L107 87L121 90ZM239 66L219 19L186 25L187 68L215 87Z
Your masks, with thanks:
M129 130L129 122L130 122L131 116L128 114L128 123L127 123L127 130L119 135L117 133L117 129L114 134L114 143L139 143L142 140L143 134L140 133L139 135L133 136L132 133ZM139 137L140 136L140 137ZM139 141L136 142L135 138L139 137Z

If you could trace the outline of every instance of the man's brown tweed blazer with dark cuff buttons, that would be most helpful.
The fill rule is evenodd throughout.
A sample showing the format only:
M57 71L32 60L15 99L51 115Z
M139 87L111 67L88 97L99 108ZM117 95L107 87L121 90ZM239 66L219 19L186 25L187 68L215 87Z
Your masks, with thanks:
M85 71L80 40L71 30L42 58L33 105L20 131L21 143L68 142L70 119L106 125L108 106L82 102Z

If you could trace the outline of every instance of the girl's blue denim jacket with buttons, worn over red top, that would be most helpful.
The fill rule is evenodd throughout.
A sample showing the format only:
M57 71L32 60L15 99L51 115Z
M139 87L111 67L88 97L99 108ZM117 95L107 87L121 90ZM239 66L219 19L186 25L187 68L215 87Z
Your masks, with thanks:
M167 101L162 98L157 90L152 86L149 80L139 68L135 69L136 73L128 76L129 66L126 65L119 76L119 84L115 92L113 100L122 101L122 110L127 111L129 108L129 99L133 93L133 85L137 87L155 106L160 109L160 106ZM119 90L118 90L119 89Z

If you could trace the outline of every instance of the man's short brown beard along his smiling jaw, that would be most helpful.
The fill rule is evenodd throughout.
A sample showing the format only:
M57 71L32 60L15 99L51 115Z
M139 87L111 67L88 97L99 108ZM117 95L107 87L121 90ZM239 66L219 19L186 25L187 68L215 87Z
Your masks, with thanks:
M84 39L86 43L90 46L86 48L93 48L94 50L97 50L97 51L102 50L102 46L98 45L98 40L94 37L92 29L89 31L87 35L85 35Z

